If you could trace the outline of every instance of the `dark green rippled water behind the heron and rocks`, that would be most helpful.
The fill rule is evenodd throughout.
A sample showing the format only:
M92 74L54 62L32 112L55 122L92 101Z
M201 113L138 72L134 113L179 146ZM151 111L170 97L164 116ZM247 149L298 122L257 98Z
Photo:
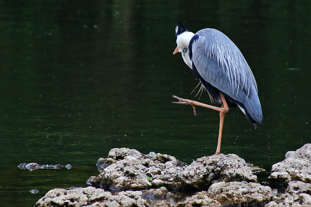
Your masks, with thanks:
M176 47L178 16L240 48L264 121L226 114L221 152L267 170L310 143L310 1L0 1L0 205L33 206L50 189L86 187L115 147L192 160L216 151L219 115L198 100ZM210 103L207 93L201 102ZM22 170L20 163L71 164ZM268 176L268 175L267 175ZM261 176L260 181L267 181ZM38 194L31 194L37 189Z

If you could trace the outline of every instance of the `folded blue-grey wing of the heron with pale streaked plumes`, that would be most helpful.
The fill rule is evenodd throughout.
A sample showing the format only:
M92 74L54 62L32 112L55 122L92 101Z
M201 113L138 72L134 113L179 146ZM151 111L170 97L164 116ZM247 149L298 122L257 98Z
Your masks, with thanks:
M233 102L242 105L255 122L261 123L257 84L242 53L216 29L202 29L196 35L198 37L192 43L192 61L198 74Z

